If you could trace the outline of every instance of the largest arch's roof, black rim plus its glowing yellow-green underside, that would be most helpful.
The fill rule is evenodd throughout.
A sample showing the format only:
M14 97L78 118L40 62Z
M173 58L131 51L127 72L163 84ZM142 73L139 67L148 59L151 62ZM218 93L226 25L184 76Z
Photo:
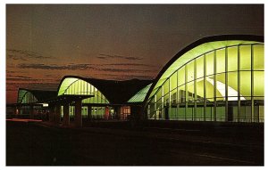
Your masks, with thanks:
M202 53L213 51L214 49L223 48L230 45L244 45L248 43L264 42L264 36L253 35L221 35L221 36L208 36L197 40L196 42L186 46L179 53L168 61L163 69L158 73L153 85L151 85L144 106L150 96L154 95L153 90L158 86L163 85L167 77L170 77L174 71L180 69L183 65L196 58Z

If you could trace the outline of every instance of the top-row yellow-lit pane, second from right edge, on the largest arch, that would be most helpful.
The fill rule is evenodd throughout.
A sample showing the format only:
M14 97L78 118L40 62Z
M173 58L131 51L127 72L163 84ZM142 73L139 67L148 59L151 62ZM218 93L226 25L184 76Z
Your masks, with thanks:
M251 69L251 45L240 46L240 70Z

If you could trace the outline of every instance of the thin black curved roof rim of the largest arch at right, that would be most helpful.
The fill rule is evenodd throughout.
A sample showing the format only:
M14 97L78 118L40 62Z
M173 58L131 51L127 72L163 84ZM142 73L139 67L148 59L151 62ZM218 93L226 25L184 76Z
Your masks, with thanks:
M169 69L169 67L172 65L174 61L177 61L180 56L182 56L184 53L187 53L191 49L197 47L198 45L203 45L208 42L215 42L215 41L228 41L228 40L245 40L245 41L258 41L264 43L264 36L255 36L255 35L219 35L219 36L205 36L201 39L198 39L194 43L191 43L190 45L187 45L186 47L182 48L179 53L176 53L170 61L168 61L164 66L163 69L158 73L158 75L155 77L153 85L151 85L147 96L145 100L143 101L143 106L145 109L146 102L149 98L150 93L152 93L153 89L155 88L156 83L159 81L159 79L163 76L163 73Z

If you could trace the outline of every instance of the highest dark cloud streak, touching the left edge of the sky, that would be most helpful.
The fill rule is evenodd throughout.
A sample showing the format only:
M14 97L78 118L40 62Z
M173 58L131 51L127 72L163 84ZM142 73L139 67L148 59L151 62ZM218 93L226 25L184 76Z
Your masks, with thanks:
M13 60L21 60L21 61L28 61L29 58L32 59L52 59L51 56L44 56L40 53L26 51L26 50L14 50L8 49L7 56Z

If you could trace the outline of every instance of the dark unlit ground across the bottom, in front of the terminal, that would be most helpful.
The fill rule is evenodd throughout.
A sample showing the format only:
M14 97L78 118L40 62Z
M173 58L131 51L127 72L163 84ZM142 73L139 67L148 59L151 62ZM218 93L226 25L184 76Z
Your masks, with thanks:
M6 166L264 166L259 127L134 131L128 124L75 129L6 121Z

